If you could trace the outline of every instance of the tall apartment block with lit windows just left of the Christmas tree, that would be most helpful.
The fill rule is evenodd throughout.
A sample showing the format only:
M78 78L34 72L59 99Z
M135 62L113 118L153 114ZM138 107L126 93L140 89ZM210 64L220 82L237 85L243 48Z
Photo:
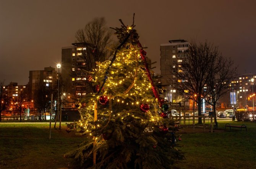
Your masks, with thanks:
M85 43L72 43L73 46L62 47L62 79L64 91L73 98L86 95L86 54Z

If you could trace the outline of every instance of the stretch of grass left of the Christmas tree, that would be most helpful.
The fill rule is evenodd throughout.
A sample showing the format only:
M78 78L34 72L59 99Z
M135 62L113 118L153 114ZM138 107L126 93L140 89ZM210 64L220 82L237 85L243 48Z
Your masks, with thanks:
M58 125L56 127L52 128L49 139L49 124L46 123L0 123L0 168L68 167L70 159L63 158L63 155L73 150L84 138L68 134L65 124L62 124L61 130Z

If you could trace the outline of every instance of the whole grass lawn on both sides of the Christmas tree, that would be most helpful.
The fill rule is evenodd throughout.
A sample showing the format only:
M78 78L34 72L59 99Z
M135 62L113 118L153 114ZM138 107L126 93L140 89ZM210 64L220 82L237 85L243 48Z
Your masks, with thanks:
M246 124L224 132L226 123ZM53 127L54 123L52 123ZM180 169L253 169L256 166L256 123L219 121L218 132L183 132L178 150L186 157L175 163ZM70 159L63 155L81 143L85 137L52 128L49 123L0 123L0 169L60 169L68 168Z

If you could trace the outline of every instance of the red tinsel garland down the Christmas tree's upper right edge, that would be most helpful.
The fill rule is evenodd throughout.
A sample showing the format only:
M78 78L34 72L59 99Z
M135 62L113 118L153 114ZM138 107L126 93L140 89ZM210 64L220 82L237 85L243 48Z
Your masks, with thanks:
M138 42L138 46L140 48L142 48L141 43L139 43L139 42ZM152 77L151 77L151 74L150 74L150 71L149 71L149 68L148 68L148 64L147 64L147 61L146 61L147 53L143 49L140 49L140 54L141 54L141 57L142 57L142 59L144 61L144 65L145 65L145 68L146 68L146 71L147 71L147 77L149 78L149 81L151 83L152 91L154 93L154 96L155 96L155 98L157 98L159 106L162 107L163 102L162 102L162 100L160 100L160 96L159 96L159 94L157 92L157 89L156 89L156 86L155 86L155 84L154 84L154 82L152 80Z

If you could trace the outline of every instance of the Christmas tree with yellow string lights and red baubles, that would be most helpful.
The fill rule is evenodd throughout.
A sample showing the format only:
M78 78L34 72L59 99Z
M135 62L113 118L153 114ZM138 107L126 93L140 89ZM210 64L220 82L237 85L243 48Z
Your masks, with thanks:
M81 121L68 124L67 131L87 139L65 157L74 159L75 168L172 168L183 158L175 148L178 124L167 116L134 24L120 22L114 28L120 45L87 77L94 93L80 100L86 103L79 108Z

